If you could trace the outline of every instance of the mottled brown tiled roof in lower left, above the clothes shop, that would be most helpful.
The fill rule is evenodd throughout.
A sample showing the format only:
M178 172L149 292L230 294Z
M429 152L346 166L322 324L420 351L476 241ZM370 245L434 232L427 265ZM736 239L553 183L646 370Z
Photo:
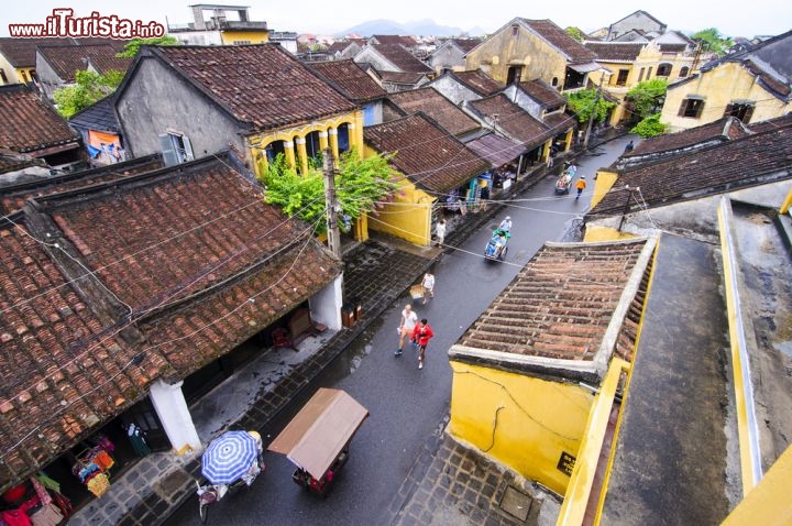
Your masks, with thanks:
M0 226L0 487L127 408L167 365L103 326L37 234L13 221Z

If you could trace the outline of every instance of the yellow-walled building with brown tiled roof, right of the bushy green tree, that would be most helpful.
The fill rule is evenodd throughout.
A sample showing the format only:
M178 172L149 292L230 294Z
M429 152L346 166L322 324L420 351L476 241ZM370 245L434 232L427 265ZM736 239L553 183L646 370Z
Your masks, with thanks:
M424 112L369 127L365 153L394 154L400 189L369 216L369 228L429 245L437 221L475 205L477 176L490 164Z

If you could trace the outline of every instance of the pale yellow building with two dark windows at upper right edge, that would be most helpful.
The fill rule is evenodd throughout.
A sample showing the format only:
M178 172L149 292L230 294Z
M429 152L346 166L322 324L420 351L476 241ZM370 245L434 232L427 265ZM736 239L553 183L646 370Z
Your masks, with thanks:
M669 131L695 128L725 116L745 123L792 110L792 77L785 57L792 32L704 65L697 74L669 86L661 121Z

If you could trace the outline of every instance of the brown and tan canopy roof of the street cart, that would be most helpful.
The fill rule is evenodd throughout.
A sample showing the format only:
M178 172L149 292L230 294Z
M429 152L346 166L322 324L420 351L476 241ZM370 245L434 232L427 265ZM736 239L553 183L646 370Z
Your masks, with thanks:
M285 454L311 476L321 479L367 416L369 410L345 392L322 387L267 451Z

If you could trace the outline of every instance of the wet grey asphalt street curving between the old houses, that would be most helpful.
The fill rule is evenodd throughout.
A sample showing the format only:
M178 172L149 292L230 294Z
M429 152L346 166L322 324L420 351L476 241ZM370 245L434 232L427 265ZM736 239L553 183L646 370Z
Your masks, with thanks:
M345 390L371 416L352 440L350 462L326 500L301 491L292 482L293 464L283 456L267 452L266 471L250 489L232 493L211 506L208 523L383 524L385 511L421 454L427 438L444 427L452 382L446 351L546 241L560 240L572 219L585 212L596 169L614 162L629 139L603 144L579 160L578 176L584 175L588 183L580 200L575 200L574 189L569 196L556 196L556 179L547 177L515 196L490 224L472 232L462 246L440 257L435 270L435 299L426 306L420 300L413 303L418 317L428 318L436 333L424 370L418 370L416 352L409 346L402 357L394 355L399 313L410 302L404 294L327 371L317 387ZM506 262L485 261L484 246L506 215L514 223ZM296 401L290 413L304 402ZM277 435L288 417L284 415L277 429L262 430L265 443ZM167 522L199 523L197 498L190 498Z

